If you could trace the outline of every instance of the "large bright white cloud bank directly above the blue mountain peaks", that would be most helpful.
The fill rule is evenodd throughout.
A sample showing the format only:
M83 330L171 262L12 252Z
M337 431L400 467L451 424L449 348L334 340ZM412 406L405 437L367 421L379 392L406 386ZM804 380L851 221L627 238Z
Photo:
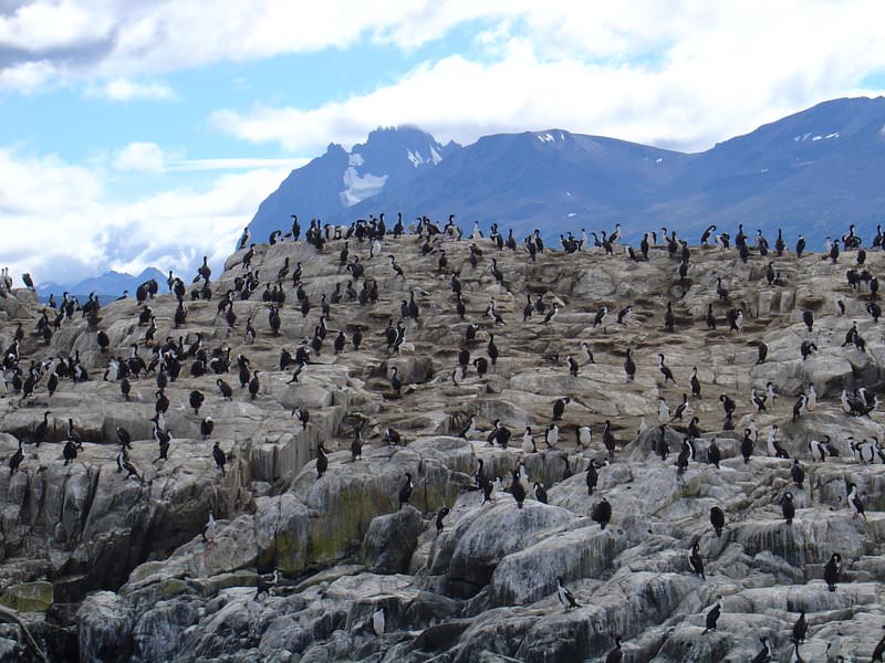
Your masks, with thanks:
M856 92L867 74L885 71L883 3L678 4L685 11L652 1L517 7L512 17L523 24L490 28L479 57L426 62L343 102L226 109L211 122L239 138L302 151L406 123L461 143L560 127L704 149Z

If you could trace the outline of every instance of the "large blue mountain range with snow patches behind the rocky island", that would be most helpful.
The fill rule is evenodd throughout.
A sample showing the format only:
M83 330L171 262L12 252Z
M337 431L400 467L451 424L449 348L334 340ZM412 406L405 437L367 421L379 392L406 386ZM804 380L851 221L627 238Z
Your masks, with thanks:
M386 212L512 228L611 230L627 240L660 227L689 238L708 224L782 228L812 246L855 223L866 242L885 211L885 98L840 98L685 154L545 129L439 144L415 127L379 128L351 151L332 144L259 207L253 241L296 213L350 223ZM694 238L697 241L697 238Z

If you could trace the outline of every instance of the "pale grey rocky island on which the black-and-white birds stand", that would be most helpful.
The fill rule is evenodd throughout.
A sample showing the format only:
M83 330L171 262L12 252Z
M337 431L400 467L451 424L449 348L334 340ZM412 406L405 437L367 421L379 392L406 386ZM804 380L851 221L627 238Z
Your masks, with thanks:
M235 253L211 282L211 301L191 301L195 286L188 284L187 319L178 328L174 297L148 299L157 327L152 346L145 345L148 327L138 325L142 306L134 299L101 309L97 328L111 340L102 352L96 329L79 312L46 341L34 330L42 307L32 294L7 293L0 299L0 347L12 345L21 322L22 373L32 360L52 357L58 367L60 358L79 352L90 380L63 378L50 397L44 375L24 398L7 375L0 457L11 457L21 440L23 460L14 473L6 462L0 469L0 602L40 588L45 617L35 613L29 620L59 660L70 660L60 652L74 648L83 661L104 662L426 661L434 655L452 662L570 661L604 656L620 635L631 660L740 661L759 651L759 635L769 635L777 656L788 657L800 610L810 624L801 650L806 660L822 660L836 633L842 633L843 653L870 656L885 622L885 465L862 442L885 438L877 410L845 414L840 397L843 389L850 397L861 388L871 397L878 391L885 345L866 313L868 291L845 281L855 254L843 253L833 265L815 254L763 259L753 250L743 264L733 250L693 248L688 276L680 282L678 261L659 248L641 262L627 260L623 248L613 256L596 249L545 250L531 262L521 250L499 252L478 239L483 255L473 269L469 243L437 239L425 255L424 238L386 238L382 253L369 257L368 243L352 239L348 260L360 256L366 278L377 281L379 299L361 304L344 294L331 304L326 339L291 383L294 366L280 369L281 350L294 356L302 339L313 338L323 294L331 297L336 284L345 292L351 275L340 267L343 241L330 242L322 253L303 242L257 244L251 270L261 286L248 299L235 295L232 327L217 315L217 304L248 272L246 251ZM442 250L446 273L438 269ZM885 256L867 253L866 269L876 274ZM389 254L405 280L391 269ZM492 256L506 285L491 274ZM278 284L287 257L287 301L274 336L261 292L268 281ZM783 285L768 285L769 260ZM311 302L306 316L291 280L299 262ZM464 320L451 293L452 269L462 285ZM717 295L717 277L727 299ZM354 286L361 290L363 280ZM160 291L167 291L165 284ZM384 330L388 320L400 320L400 304L413 293L419 315L402 320L405 340L394 351ZM546 311L523 322L527 294L532 302L541 296ZM844 301L845 315L836 314L834 297ZM485 315L492 299L503 322ZM667 302L674 332L665 328ZM559 313L544 324L554 303ZM718 318L715 330L704 322L710 303ZM603 305L608 316L594 326ZM618 323L617 313L627 305L633 313ZM743 313L740 332L728 329L729 308ZM803 323L804 311L814 314L812 332ZM256 329L251 343L249 318ZM865 351L842 346L854 322ZM472 343L465 340L470 323L478 325ZM351 340L357 327L363 343L355 350ZM346 344L335 352L340 330ZM230 348L231 367L194 376L195 357L174 350L181 371L165 388L173 440L168 457L158 459L150 422L156 371L131 378L128 401L119 380L103 375L111 357L129 357L133 344L150 364L154 348L167 337L170 348L180 337L186 349L198 333L210 354ZM492 335L494 365L488 348ZM800 354L804 340L819 348L808 359ZM757 364L759 341L769 348L762 364ZM586 362L582 343L594 362ZM452 371L465 348L469 368L456 382ZM629 382L627 348L637 365ZM660 352L676 385L664 382ZM239 354L250 371L259 371L256 398L240 387ZM568 356L579 362L576 376ZM481 377L472 364L478 357L490 365ZM398 391L392 385L394 367L402 380ZM683 394L691 394L695 367L701 397L689 398L690 410L671 420ZM217 379L231 386L231 401L222 399ZM766 393L768 382L774 402L769 399L767 411L757 411L750 390ZM796 397L810 383L816 391L813 411L804 409L793 419ZM206 397L199 413L189 404L192 390ZM722 430L720 394L737 404L733 431ZM564 397L570 402L549 446L553 402ZM670 409L663 430L660 397ZM298 407L309 411L306 425L293 417ZM38 446L35 427L46 411ZM215 423L209 439L200 432L206 415ZM679 473L677 459L693 417L701 436ZM465 438L471 418L477 430ZM65 465L69 419L83 446ZM507 449L488 442L494 420L512 433ZM641 430L643 420L647 430ZM591 461L598 465L608 457L606 421L615 451L610 464L596 470L589 495ZM772 424L791 459L769 453ZM140 481L117 472L121 425L132 435L129 460ZM537 451L523 441L525 427ZM587 448L577 444L579 427L591 428ZM745 463L743 430L753 427L759 439ZM399 434L399 443L391 443L388 429ZM353 460L357 434L362 453ZM839 456L812 460L810 441L824 436ZM212 457L214 442L229 455L223 475ZM714 442L720 469L707 463ZM317 477L320 443L329 462ZM801 487L791 478L792 457L804 469ZM480 459L492 485L488 502L477 485ZM527 493L522 508L507 492L514 471ZM406 474L413 492L400 506ZM548 504L535 498L535 482L543 485ZM863 496L865 519L852 517L850 483ZM795 507L789 526L781 514L788 491ZM604 529L594 517L603 498L612 506ZM712 506L726 514L721 536L710 525ZM448 513L438 533L442 507ZM204 541L210 508L217 525ZM706 580L688 565L695 541ZM843 567L836 591L829 592L822 578L834 552ZM274 569L281 577L269 588L264 575ZM558 601L558 577L579 607L565 610ZM50 597L53 604L46 609ZM722 597L718 629L702 634L717 597ZM382 608L385 628L376 635L373 614ZM10 634L0 631L0 652L14 650Z

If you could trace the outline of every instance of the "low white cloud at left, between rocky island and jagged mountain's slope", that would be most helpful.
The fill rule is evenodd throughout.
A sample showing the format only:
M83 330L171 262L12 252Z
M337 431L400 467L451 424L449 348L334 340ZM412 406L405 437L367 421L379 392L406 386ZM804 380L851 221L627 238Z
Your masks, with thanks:
M30 272L38 282L148 265L190 274L202 255L220 269L258 204L288 173L252 169L200 189L118 202L100 168L0 148L0 265L17 278Z

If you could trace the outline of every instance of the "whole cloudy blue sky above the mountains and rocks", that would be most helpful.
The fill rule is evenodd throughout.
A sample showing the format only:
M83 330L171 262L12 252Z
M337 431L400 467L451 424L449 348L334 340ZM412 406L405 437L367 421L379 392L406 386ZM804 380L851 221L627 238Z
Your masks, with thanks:
M705 150L882 94L883 24L881 0L0 0L0 265L220 266L292 168L378 126Z

